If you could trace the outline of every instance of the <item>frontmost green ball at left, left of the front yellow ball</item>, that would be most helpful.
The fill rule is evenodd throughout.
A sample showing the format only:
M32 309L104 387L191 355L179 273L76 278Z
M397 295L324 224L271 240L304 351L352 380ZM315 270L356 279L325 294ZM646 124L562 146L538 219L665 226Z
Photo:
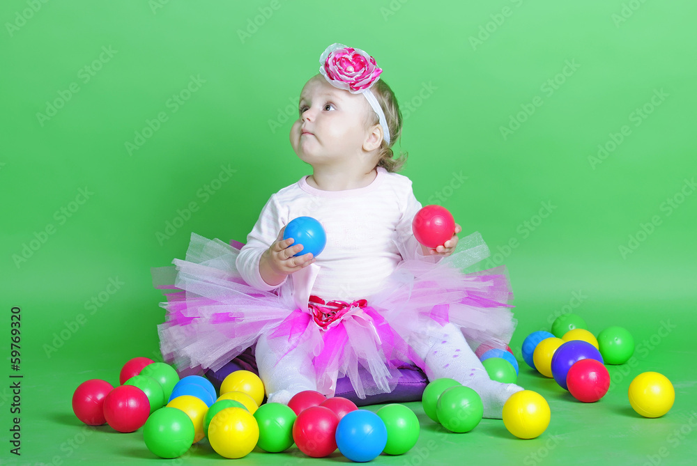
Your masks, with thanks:
M143 440L160 458L178 458L194 443L194 423L176 407L161 407L148 417Z

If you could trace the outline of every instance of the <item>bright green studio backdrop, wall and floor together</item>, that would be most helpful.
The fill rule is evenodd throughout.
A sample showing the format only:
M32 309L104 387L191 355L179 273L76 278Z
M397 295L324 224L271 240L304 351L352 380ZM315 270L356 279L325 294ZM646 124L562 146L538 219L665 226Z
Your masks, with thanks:
M150 267L183 257L192 231L244 241L270 194L310 173L288 133L319 55L342 42L374 56L397 94L406 116L398 144L410 154L401 173L418 199L445 205L463 234L480 231L489 267L507 265L514 350L572 310L596 334L627 327L639 345L634 367L609 368L611 392L593 405L519 357L519 384L551 405L536 440L514 440L495 420L446 434L411 403L419 443L376 462L689 463L695 15L687 0L3 1L0 341L4 377L24 378L21 458L8 453L12 401L0 384L2 462L154 460L141 430L81 427L72 391L89 378L118 383L132 357L159 357L164 310ZM148 121L157 130L129 150ZM613 147L613 138L622 141ZM599 144L608 153L594 160ZM222 167L234 173L216 182ZM13 306L22 309L17 372ZM627 387L643 371L675 386L665 417L629 407ZM218 459L202 442L187 461ZM279 461L310 459L293 447L238 464ZM346 460L312 460L322 461Z

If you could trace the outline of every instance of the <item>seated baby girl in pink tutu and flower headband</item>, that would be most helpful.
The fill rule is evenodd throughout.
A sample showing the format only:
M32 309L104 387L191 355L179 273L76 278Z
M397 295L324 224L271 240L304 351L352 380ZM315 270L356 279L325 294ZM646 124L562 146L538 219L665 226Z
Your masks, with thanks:
M320 73L302 88L290 134L312 175L273 194L247 244L192 234L163 303L162 355L181 370L217 370L255 345L268 401L318 390L332 396L347 375L360 398L392 391L397 368L422 368L429 380L453 378L499 418L521 390L489 379L471 348L505 348L515 320L504 267L464 269L489 255L478 233L455 234L435 249L411 224L422 207L411 181L395 173L401 133L395 95L372 56L334 44ZM325 227L318 257L283 240L296 217ZM456 246L457 252L454 252ZM471 347L470 347L471 345Z

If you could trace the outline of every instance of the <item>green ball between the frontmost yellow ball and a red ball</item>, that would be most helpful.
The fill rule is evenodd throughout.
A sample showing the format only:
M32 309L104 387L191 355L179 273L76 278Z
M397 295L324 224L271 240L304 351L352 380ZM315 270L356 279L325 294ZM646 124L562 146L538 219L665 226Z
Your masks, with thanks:
M254 412L259 424L259 441L256 445L263 451L278 453L293 444L293 424L296 413L281 403L266 403Z

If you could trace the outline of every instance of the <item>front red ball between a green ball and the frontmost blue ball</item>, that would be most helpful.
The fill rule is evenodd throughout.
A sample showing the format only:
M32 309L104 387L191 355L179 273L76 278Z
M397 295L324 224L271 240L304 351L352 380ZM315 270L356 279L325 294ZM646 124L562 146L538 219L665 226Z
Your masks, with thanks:
M337 449L338 425L339 417L328 407L308 407L298 414L293 424L293 441L307 456L329 456Z

